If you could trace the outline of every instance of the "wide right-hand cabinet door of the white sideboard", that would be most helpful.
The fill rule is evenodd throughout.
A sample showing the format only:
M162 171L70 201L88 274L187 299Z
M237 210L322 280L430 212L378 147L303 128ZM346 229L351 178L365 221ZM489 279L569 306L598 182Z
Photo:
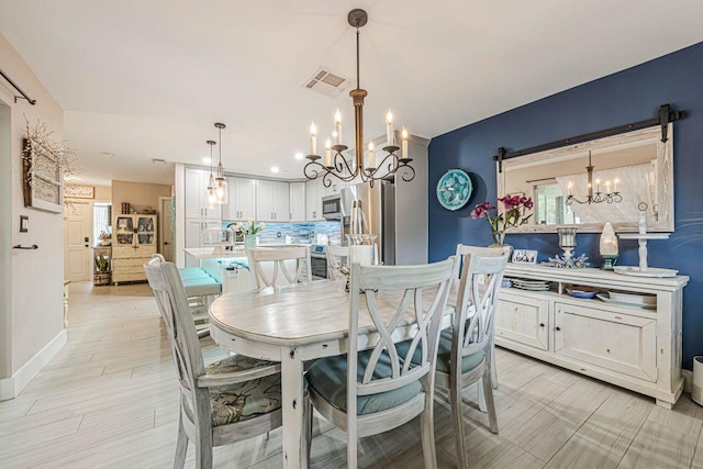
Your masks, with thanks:
M654 319L555 303L557 355L655 382L656 345Z

